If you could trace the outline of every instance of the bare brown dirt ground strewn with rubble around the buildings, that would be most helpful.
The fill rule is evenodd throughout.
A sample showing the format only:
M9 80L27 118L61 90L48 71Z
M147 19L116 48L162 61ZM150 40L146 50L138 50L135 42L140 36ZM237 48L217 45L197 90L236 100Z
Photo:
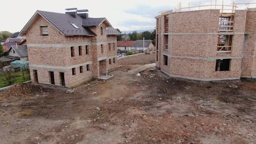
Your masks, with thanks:
M128 72L154 62L154 55L118 62L112 79L86 82L73 93L40 84L0 92L0 143L256 143L256 82Z

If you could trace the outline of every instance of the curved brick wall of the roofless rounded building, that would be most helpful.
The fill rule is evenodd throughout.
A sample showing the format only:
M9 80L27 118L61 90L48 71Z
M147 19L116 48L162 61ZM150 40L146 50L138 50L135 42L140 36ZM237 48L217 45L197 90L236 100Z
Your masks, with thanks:
M217 53L220 10L196 10L169 14L169 33L164 33L164 16L158 19L159 52L156 65L168 75L199 80L239 79L246 10L236 10L230 53ZM164 50L168 35L168 51ZM163 63L168 56L168 65ZM229 71L215 71L216 59L231 59Z

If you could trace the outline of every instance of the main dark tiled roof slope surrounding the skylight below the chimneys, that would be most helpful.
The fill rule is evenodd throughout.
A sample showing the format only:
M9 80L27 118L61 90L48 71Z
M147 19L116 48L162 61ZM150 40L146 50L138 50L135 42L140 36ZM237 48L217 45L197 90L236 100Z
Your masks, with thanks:
M77 18L65 14L65 13L53 13L53 12L46 12L46 11L40 11L38 12L46 18L50 23L52 23L54 26L56 26L57 29L59 29L63 34L65 35L75 35L75 36L94 36L95 33L93 33L89 28L86 28L84 26L81 26L81 20L82 18L80 16L77 16ZM79 29L76 29L74 26L71 25L71 23L75 23L76 26L79 27Z

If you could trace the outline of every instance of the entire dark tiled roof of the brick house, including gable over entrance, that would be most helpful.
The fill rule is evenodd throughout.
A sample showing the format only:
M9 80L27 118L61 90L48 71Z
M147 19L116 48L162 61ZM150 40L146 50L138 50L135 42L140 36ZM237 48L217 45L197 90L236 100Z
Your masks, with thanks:
M78 10L79 11L79 10ZM32 16L29 22L21 30L19 36L27 31L27 29L33 24L38 15L43 16L49 23L53 24L63 35L65 36L96 36L96 34L89 29L90 26L98 26L102 22L106 23L110 28L107 30L107 35L119 35L106 18L83 18L79 15L75 18L68 13L53 13L47 11L37 10L36 13ZM71 23L74 23L77 27L72 26Z

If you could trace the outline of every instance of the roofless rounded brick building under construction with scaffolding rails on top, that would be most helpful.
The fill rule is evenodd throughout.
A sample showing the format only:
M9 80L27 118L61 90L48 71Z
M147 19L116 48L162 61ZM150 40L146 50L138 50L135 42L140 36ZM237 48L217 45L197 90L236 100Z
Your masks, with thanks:
M156 65L169 76L256 78L256 8L164 11L156 33Z

